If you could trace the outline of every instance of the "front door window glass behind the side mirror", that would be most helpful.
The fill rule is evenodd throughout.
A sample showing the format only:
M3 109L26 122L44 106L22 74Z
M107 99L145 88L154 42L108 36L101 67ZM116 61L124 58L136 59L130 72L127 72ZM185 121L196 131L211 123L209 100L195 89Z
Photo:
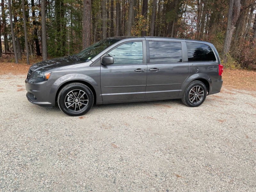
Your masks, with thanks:
M142 42L130 42L108 52L114 58L114 65L135 65L143 61Z

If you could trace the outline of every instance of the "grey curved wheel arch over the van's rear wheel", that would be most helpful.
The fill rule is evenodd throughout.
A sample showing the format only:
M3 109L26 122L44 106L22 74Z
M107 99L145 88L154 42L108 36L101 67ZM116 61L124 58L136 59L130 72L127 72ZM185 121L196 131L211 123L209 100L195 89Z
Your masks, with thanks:
M190 82L192 82L192 81L194 81L196 79L204 79L204 80L206 80L209 83L209 92L212 91L212 79L211 79L211 77L208 76L205 73L196 73L196 74L193 74L193 75L189 76L183 82L183 84L181 85L181 88L180 88L179 96L182 96L184 94L186 88L188 87L188 84L190 84Z

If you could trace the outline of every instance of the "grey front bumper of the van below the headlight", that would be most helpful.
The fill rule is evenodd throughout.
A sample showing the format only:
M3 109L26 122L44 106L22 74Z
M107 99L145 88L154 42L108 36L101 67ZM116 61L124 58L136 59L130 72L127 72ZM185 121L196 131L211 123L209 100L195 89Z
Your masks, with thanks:
M56 86L46 86L47 81L36 84L26 83L27 98L33 104L40 106L55 106Z

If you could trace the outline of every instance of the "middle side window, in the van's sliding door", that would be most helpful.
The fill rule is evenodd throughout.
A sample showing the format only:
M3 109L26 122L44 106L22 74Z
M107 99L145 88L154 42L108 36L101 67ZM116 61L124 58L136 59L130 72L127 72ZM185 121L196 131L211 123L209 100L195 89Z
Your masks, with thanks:
M150 63L176 63L182 62L181 43L149 41Z

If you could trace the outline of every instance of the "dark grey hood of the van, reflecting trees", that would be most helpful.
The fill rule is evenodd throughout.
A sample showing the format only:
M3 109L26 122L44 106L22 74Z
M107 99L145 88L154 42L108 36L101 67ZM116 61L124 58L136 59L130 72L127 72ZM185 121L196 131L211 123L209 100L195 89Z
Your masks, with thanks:
M32 65L30 67L30 70L31 71L36 71L38 69L49 70L49 69L53 69L53 68L57 68L57 67L74 65L74 64L79 64L79 63L84 63L84 61L76 60L71 57L60 57L60 58L55 58L55 59L50 59L50 60L35 63L34 65Z

